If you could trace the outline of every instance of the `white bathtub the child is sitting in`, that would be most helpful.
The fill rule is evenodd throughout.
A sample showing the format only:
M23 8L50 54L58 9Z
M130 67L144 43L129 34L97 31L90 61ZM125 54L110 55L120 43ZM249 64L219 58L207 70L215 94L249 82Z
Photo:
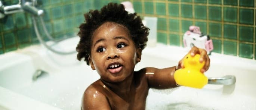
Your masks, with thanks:
M56 46L74 50L77 42L77 37L70 38ZM175 66L186 53L181 47L162 44L146 47L135 69ZM255 110L256 61L217 53L212 53L210 59L206 76L234 75L236 84L206 85L203 89L179 87L174 91L150 89L146 109ZM0 63L0 110L80 110L84 89L99 79L96 71L76 60L76 54L54 54L41 45L2 54ZM33 81L37 69L47 74Z

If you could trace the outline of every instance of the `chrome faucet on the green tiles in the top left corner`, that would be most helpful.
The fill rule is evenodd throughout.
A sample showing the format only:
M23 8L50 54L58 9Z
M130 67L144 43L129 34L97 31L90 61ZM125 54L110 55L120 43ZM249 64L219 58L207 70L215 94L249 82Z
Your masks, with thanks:
M43 14L43 10L37 9L35 6L37 0L19 0L18 4L4 6L3 2L0 0L0 18L4 18L5 15L18 13L18 12L28 12L33 15L40 16Z

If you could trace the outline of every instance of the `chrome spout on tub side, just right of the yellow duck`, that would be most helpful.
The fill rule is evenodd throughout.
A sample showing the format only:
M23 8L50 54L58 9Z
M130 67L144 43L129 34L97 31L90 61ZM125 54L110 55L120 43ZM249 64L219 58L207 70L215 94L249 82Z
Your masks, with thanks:
M232 85L235 84L235 76L211 77L208 78L208 84Z

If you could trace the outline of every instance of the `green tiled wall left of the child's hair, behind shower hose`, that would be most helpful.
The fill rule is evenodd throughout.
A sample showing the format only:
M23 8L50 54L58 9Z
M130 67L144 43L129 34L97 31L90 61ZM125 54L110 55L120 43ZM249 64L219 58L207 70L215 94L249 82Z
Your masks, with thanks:
M19 0L2 1L4 6L9 6L17 4ZM94 4L98 4L100 0L37 1L37 7L44 10L42 17L47 30L54 38L60 39L64 36L76 35L78 26L84 22L83 14L89 9L96 9ZM109 2L108 0L104 1ZM120 0L114 2L120 2ZM0 54L39 43L31 20L31 15L28 13L15 13L0 19ZM47 41L42 27L39 28L39 32Z

